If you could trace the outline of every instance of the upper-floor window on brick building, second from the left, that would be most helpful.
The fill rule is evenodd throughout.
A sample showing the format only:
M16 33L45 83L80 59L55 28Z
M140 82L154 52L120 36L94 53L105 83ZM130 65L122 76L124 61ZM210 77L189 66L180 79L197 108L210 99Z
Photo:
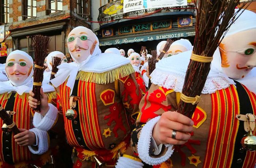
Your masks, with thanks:
M23 20L27 18L37 17L37 0L22 1Z

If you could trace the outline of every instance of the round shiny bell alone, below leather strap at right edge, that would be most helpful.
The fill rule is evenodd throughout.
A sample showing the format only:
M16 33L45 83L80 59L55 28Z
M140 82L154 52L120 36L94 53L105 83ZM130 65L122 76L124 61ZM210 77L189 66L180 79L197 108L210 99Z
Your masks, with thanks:
M256 136L252 134L252 130L241 140L242 147L249 151L256 150Z

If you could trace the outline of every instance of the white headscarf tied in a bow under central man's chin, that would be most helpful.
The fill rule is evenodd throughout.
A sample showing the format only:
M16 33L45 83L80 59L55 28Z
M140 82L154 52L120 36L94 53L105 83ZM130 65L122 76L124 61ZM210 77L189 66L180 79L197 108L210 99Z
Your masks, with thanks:
M76 28L81 28L81 27L82 26L78 26ZM74 28L73 30L75 30L76 28ZM83 62L80 62L80 63L79 62L71 62L71 63L64 63L64 64L59 65L57 67L57 68L59 68L59 70L58 70L57 74L55 75L55 78L51 80L51 83L55 87L59 87L69 77L68 81L67 81L67 86L69 88L71 88L70 93L72 93L72 91L73 91L75 80L76 80L76 75L77 75L78 71L83 70L86 67L86 64L89 60L92 60L93 58L95 58L96 56L101 54L101 50L99 49L99 39L97 38L97 36L89 28L83 27L83 29L86 31L87 34L94 36L95 40L97 41L97 44L93 51L93 54L90 54L86 60L84 60ZM70 53L70 51L69 51L69 53ZM71 54L71 57L72 57L72 54Z

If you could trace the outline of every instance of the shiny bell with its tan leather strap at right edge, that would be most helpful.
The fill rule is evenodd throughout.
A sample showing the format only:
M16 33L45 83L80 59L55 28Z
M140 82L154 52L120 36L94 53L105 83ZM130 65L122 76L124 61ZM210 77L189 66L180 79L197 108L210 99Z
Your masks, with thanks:
M244 129L247 132L247 135L242 138L241 145L244 149L249 151L256 150L256 136L252 134L252 131L255 128L255 119L256 116L253 114L238 114L236 118L240 121L244 121Z

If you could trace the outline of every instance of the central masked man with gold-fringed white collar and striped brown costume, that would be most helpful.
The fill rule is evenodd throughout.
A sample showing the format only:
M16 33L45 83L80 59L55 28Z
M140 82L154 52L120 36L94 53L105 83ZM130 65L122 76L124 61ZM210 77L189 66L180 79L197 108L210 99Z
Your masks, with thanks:
M101 53L98 38L86 27L74 28L67 44L75 62L58 66L51 82L59 91L74 167L114 167L124 153L135 159L128 146L142 94L132 65L120 55Z

